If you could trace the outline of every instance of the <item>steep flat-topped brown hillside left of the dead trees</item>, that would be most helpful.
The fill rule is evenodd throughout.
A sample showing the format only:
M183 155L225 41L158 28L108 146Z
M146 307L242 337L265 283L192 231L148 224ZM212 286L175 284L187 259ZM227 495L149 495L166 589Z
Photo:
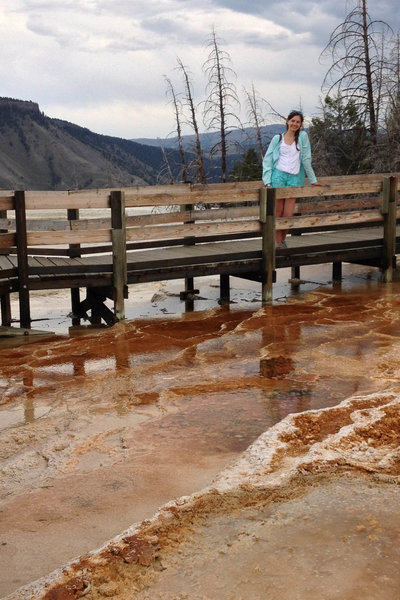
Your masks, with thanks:
M38 104L0 98L0 189L85 189L157 182L158 148L45 116Z

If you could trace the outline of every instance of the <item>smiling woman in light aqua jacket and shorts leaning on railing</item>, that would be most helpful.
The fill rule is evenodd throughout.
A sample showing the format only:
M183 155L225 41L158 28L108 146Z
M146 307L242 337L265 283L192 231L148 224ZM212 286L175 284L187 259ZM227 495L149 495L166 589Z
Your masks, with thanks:
M263 182L266 187L297 187L304 185L305 176L312 185L317 182L311 165L311 146L308 135L301 130L303 113L292 110L286 119L286 132L275 135L263 160ZM296 198L277 199L276 216L291 217ZM275 233L278 248L286 248L287 230Z

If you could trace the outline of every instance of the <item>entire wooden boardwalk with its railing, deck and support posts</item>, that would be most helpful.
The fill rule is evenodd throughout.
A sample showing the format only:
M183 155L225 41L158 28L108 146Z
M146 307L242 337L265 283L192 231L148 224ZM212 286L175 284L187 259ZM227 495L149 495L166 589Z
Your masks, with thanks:
M397 180L397 174L325 178L322 188L292 189L296 214L281 219L275 203L288 190L267 191L258 182L4 193L2 325L11 323L11 292L19 295L21 327L29 329L34 290L69 288L75 323L112 324L124 318L129 286L140 282L183 279L185 293L193 295L194 278L219 275L221 300L228 302L229 276L239 276L259 281L268 302L276 270L284 267L295 276L302 265L332 263L339 278L343 262L359 263L379 268L390 281L400 251ZM64 212L59 219L27 217L40 209ZM81 209L110 215L80 218ZM292 233L286 249L275 248L278 228Z

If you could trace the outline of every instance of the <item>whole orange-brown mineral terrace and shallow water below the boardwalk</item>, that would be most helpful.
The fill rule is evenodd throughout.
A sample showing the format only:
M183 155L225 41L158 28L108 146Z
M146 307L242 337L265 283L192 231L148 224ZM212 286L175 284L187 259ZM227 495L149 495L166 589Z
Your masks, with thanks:
M302 275L1 341L1 598L399 600L400 282Z

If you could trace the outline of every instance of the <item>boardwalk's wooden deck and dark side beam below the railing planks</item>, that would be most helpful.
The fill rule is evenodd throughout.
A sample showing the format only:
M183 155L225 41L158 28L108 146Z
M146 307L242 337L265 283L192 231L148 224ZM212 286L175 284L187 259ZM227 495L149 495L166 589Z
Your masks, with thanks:
M289 236L288 247L277 249L275 268L334 262L370 261L380 266L382 228L351 229ZM396 228L396 254L400 252L400 226ZM215 274L240 276L261 281L262 240L210 242L192 246L157 248L127 252L127 283L142 283ZM112 256L63 258L30 256L28 259L31 290L63 289L83 282L104 286L112 279ZM101 276L99 278L99 273ZM253 277L250 274L253 273ZM18 259L0 255L1 285L18 291ZM96 283L96 280L98 282Z

